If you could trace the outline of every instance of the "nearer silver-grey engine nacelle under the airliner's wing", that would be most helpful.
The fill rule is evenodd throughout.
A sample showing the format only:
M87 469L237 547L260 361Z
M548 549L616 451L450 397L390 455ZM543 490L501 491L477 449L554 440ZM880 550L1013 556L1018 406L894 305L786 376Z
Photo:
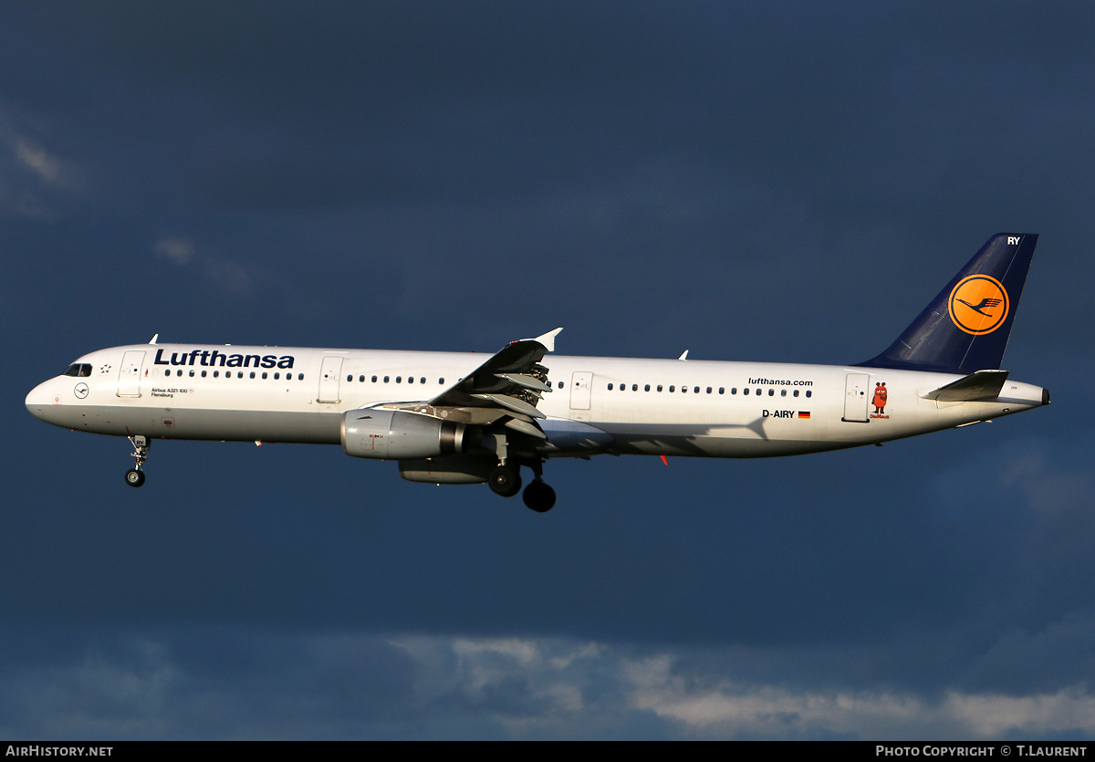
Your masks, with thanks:
M406 411L357 409L343 415L342 443L355 458L403 460L457 454L471 443L464 424Z

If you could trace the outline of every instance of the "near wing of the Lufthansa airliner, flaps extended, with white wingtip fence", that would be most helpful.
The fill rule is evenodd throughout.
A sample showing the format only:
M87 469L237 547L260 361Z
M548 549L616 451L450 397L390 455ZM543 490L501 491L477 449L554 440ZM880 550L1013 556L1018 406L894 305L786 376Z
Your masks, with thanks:
M548 369L540 360L555 348L555 336L562 330L508 344L433 400L400 407L462 424L499 423L514 431L546 439L535 423L546 417L537 409L537 403L551 391Z

